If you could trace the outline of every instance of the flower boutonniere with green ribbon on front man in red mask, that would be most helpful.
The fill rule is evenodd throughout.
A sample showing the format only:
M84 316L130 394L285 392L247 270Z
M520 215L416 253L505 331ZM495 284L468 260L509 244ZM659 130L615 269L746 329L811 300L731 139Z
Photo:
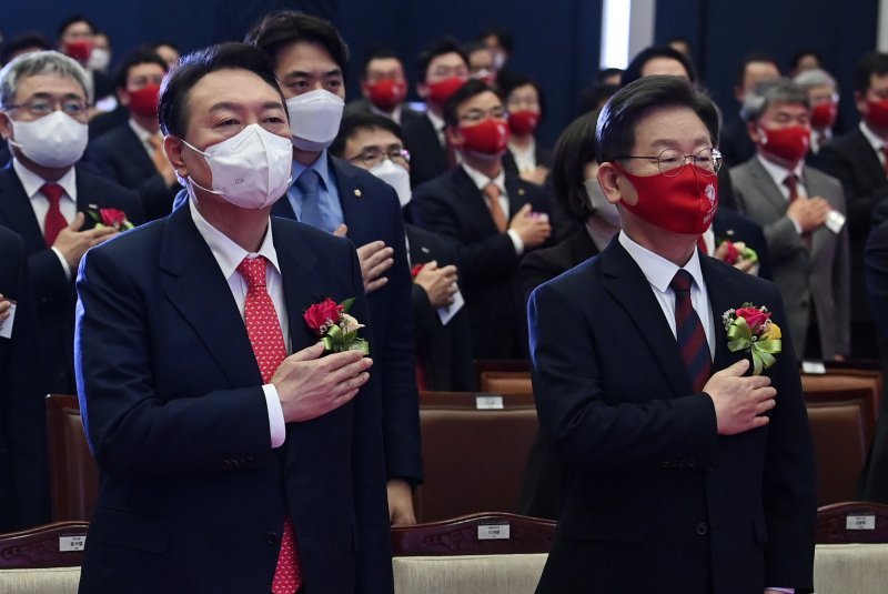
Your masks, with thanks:
M728 350L751 353L753 375L759 375L774 365L777 361L774 355L781 349L783 334L766 306L756 308L747 302L737 310L723 313L722 320L728 333Z

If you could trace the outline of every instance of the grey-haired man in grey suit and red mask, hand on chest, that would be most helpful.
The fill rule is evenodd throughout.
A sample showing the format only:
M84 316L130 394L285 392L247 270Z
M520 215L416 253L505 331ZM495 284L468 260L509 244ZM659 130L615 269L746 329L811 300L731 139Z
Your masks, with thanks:
M789 79L764 82L746 94L744 114L756 157L730 170L737 208L765 230L796 356L840 359L850 351L845 193L805 164L808 94Z

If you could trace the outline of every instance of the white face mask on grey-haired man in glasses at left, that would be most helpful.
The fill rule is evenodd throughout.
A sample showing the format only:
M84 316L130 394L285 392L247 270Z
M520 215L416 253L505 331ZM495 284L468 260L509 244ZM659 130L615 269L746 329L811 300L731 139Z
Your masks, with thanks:
M10 142L39 165L69 167L87 150L89 128L61 111L32 122L9 120L14 137Z

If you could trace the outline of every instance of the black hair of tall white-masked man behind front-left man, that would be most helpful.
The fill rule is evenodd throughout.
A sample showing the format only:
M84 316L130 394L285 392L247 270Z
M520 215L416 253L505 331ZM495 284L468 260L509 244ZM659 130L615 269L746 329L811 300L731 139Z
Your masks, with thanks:
M255 46L269 54L273 62L278 61L278 50L283 46L307 41L320 43L333 58L345 80L349 68L349 46L333 27L333 23L295 10L278 10L266 14L253 27L244 42Z

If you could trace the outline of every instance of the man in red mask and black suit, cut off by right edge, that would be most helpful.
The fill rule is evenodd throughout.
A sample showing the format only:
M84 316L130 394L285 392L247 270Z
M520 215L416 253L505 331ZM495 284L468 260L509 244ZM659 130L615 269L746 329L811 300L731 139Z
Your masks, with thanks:
M817 167L838 179L848 200L851 244L851 354L879 356L876 330L864 282L864 246L871 228L888 220L888 53L869 52L855 69L859 125L827 143ZM882 203L879 207L879 203Z

